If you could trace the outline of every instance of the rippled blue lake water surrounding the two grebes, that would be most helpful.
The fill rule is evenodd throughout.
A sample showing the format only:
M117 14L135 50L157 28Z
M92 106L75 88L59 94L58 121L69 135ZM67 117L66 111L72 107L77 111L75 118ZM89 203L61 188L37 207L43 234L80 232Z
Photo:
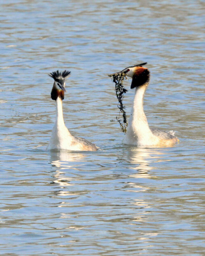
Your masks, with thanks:
M1 1L1 255L203 255L202 7ZM142 62L148 122L176 131L174 147L121 143L107 75ZM57 69L71 71L65 123L97 152L46 150ZM129 89L128 115L133 97Z

